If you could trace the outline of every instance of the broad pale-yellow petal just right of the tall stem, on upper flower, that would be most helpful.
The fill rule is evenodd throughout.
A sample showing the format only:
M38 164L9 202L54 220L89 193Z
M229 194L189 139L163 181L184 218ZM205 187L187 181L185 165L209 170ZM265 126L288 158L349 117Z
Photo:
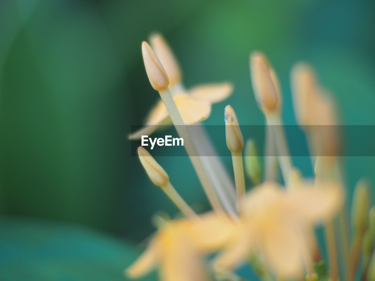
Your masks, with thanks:
M185 94L176 95L173 99L185 125L203 121L211 114L211 105L206 101Z

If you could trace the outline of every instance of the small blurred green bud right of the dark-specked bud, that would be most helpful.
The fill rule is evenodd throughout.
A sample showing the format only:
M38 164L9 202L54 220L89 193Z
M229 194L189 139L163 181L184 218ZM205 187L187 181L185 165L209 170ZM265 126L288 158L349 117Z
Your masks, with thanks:
M246 141L245 170L246 175L248 175L253 184L260 183L262 171L257 153L257 147L252 139L248 139L248 141Z

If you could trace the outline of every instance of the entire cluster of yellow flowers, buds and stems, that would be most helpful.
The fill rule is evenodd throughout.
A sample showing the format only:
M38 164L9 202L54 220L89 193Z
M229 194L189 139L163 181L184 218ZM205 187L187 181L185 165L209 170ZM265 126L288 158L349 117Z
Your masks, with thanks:
M297 121L306 133L311 155L322 155L311 157L315 179L303 179L293 166L280 115L282 93L277 75L261 52L252 52L251 82L269 125L266 149L275 149L278 156L266 156L262 181L254 141L248 140L245 147L236 113L226 106L225 137L233 160L233 184L218 157L196 156L202 147L211 146L209 138L202 134L197 140L198 136L180 126L201 127L199 122L209 117L212 103L225 100L233 86L225 82L186 90L180 67L165 40L154 34L150 42L152 48L142 43L142 54L150 84L161 100L148 115L145 127L130 138L139 139L159 125L173 123L185 141L213 210L196 214L177 193L165 170L139 147L147 175L185 218L159 223L147 249L126 269L126 275L136 278L158 266L163 281L243 280L236 275L236 268L249 263L264 281L335 281L340 276L351 281L358 271L362 280L375 280L375 207L369 208L368 183L357 184L349 219L344 208L337 133L332 126L327 131L314 129L314 125L334 125L337 121L333 101L318 83L312 67L297 63L291 72L291 84ZM276 164L285 186L277 183ZM245 174L254 183L247 193ZM329 270L315 238L318 223L324 228ZM342 259L338 259L338 253Z

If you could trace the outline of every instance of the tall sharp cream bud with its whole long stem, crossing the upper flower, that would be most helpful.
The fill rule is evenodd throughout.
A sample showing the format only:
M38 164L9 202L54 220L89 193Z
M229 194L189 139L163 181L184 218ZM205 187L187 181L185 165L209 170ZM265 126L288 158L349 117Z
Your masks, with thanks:
M180 138L184 139L184 148L186 149L187 155L189 155L190 161L192 162L195 172L197 173L198 178L201 181L208 200L210 201L215 211L222 212L222 208L213 190L210 178L208 177L207 172L203 167L202 161L189 135L189 130L185 126L180 112L178 112L177 106L173 100L173 97L168 90L168 77L166 76L165 72L157 71L157 69L163 69L160 61L157 59L155 53L146 42L142 43L142 54L150 83L153 87L154 85L156 85L154 89L159 91L160 97L168 111L169 117L171 117L172 123L174 124L178 135L180 136ZM163 82L161 76L163 76L164 74L166 76L166 79L164 80L164 84L162 85L163 87L160 87L161 83L157 84L154 82L154 80L158 79L158 81L160 80ZM168 83L165 81L168 81Z

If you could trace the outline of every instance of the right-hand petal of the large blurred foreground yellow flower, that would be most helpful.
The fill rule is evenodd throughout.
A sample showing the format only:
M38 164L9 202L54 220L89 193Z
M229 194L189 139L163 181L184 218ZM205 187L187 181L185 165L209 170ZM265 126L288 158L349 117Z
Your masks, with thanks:
M306 223L332 218L343 203L341 188L333 181L291 190L287 200L291 212Z

